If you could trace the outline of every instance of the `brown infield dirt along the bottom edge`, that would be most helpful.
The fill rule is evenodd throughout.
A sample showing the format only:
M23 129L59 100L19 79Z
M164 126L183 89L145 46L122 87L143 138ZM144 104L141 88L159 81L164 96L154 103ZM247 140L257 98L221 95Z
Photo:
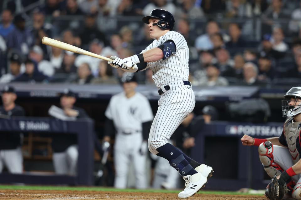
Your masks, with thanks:
M120 199L120 200L173 200L177 193L150 192L97 192L97 191L56 191L56 190L0 190L0 199ZM267 200L266 197L252 195L214 195L197 193L187 200Z

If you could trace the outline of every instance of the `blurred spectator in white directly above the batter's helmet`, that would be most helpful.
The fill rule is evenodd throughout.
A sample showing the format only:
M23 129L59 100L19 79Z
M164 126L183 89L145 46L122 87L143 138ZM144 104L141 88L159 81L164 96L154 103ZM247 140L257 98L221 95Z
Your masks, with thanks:
M152 10L157 8L168 10L168 12L172 13L172 15L175 15L175 12L177 10L177 7L170 1L167 2L167 0L153 0L144 7L142 13L144 16L148 16Z

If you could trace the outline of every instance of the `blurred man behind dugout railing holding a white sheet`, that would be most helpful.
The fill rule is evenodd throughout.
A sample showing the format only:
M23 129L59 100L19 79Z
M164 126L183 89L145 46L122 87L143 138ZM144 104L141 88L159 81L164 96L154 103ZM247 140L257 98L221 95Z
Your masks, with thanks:
M61 94L60 104L62 113L55 113L49 109L48 113L61 120L77 120L89 118L82 108L75 107L76 94L71 90L64 90ZM78 147L77 137L74 134L53 134L52 136L53 165L55 173L65 175L77 174Z

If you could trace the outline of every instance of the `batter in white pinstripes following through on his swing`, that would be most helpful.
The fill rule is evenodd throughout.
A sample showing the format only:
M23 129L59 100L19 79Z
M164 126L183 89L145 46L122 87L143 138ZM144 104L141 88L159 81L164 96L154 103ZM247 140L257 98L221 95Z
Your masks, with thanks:
M114 61L108 64L127 72L152 70L161 98L151 125L148 148L151 153L167 159L186 181L186 187L178 197L190 197L205 185L213 170L168 143L172 133L195 106L195 96L188 81L189 49L185 38L173 31L175 20L170 12L154 9L142 21L148 24L154 41L140 54L124 59L111 57ZM120 120L131 123L126 118Z

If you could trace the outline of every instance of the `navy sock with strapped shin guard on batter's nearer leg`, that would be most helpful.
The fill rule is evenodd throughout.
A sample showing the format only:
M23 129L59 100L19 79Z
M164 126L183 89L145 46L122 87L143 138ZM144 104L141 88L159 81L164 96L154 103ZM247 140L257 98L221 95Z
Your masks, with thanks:
M157 156L168 160L169 164L175 168L181 174L181 176L198 173L184 158L182 152L176 147L172 146L170 143L166 143L156 150L159 152Z

